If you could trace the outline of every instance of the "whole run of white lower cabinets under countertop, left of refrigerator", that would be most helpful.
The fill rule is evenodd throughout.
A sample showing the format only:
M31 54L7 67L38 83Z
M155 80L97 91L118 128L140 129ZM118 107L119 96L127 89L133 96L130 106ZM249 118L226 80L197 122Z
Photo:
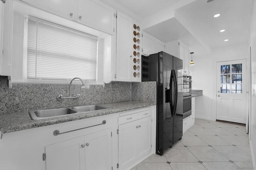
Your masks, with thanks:
M5 133L0 169L128 170L155 152L155 137L156 106Z

